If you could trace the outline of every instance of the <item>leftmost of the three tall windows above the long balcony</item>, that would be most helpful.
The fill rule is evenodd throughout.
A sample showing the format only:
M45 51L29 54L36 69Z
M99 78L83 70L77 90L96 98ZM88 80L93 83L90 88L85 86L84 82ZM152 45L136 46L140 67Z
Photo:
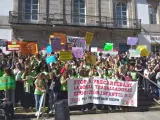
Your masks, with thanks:
M25 20L38 19L38 0L25 0Z

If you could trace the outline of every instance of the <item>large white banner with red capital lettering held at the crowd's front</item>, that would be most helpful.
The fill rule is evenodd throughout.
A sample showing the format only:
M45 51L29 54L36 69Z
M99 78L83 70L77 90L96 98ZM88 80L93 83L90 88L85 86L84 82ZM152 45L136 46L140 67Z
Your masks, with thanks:
M88 103L137 107L137 82L75 78L68 80L69 106Z

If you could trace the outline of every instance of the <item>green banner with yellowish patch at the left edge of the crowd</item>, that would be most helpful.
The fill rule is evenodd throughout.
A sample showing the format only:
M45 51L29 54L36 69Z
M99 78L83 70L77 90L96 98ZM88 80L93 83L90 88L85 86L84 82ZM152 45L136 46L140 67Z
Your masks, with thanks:
M15 78L11 76L0 77L0 90L15 89Z

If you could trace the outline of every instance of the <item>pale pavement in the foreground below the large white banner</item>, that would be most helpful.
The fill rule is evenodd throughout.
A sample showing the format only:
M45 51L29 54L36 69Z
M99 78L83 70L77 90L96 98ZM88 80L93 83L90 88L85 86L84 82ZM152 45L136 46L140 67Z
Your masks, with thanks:
M53 120L53 118L45 120ZM75 115L75 116L72 115L71 120L160 120L160 111L90 114L90 115Z

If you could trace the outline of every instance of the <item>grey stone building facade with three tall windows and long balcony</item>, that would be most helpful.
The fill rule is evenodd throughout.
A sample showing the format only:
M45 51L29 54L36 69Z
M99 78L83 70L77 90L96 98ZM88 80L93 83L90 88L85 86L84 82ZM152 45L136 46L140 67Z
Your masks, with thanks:
M9 16L13 37L37 41L40 47L53 32L79 37L93 32L92 47L112 42L124 51L127 37L141 31L135 0L14 0Z

